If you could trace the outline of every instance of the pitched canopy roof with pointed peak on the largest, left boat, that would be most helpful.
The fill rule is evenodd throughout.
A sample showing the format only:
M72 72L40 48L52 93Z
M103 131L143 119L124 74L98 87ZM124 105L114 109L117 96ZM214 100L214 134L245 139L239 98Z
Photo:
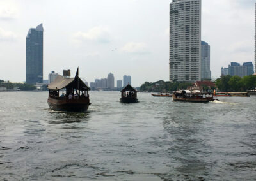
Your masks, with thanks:
M90 88L81 80L77 73L74 78L65 78L63 76L58 76L53 82L48 85L48 89L58 91L63 88L74 88L81 91L89 91Z

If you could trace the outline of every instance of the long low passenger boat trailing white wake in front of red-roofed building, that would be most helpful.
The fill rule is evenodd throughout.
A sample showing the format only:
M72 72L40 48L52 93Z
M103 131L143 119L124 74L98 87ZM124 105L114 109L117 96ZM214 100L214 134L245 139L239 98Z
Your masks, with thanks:
M186 101L195 103L207 103L209 101L215 101L218 99L213 98L211 92L191 92L189 90L173 92L173 101Z

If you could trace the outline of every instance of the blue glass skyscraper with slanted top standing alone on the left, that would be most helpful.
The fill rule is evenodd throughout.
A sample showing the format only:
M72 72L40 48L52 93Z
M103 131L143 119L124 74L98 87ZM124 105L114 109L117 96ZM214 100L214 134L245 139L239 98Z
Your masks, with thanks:
M26 83L43 83L43 24L31 28L26 37Z

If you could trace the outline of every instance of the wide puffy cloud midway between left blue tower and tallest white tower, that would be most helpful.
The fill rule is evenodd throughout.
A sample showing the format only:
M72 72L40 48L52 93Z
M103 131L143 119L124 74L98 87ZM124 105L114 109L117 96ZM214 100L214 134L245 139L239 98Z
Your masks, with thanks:
M108 28L102 26L93 27L86 32L78 31L73 34L73 37L79 41L91 40L99 43L109 43L111 41Z

